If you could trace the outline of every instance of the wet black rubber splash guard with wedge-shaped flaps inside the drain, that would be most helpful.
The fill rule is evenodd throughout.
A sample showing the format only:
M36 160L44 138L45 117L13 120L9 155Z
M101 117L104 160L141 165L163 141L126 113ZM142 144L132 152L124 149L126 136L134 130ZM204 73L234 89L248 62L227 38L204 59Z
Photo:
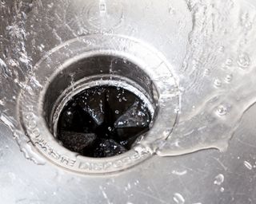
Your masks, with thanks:
M57 138L80 155L110 157L130 150L150 121L148 108L133 92L96 86L68 101L59 116Z

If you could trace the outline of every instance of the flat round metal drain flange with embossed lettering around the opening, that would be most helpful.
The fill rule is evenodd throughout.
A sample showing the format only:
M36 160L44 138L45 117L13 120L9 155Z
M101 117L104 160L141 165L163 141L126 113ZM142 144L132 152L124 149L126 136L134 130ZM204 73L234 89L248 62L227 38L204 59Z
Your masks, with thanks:
M149 75L159 96L158 116L146 139L122 155L104 159L84 157L62 147L46 125L42 104L47 85L57 73L74 61L95 55L125 57L133 61ZM34 147L58 166L79 173L121 171L150 158L158 141L170 135L177 118L175 110L179 105L178 87L170 70L171 67L162 54L141 41L122 36L78 37L51 50L38 62L34 77L30 77L26 90L19 97L19 120Z

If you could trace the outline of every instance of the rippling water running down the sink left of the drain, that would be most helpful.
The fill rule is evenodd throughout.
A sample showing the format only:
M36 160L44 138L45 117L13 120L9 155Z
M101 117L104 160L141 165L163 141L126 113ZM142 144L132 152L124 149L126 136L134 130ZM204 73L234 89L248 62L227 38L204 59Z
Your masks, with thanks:
M5 1L2 1L5 2ZM18 94L22 89L29 89L26 80L33 77L33 65L31 57L26 50L26 13L30 12L32 1L15 2L14 6L8 6L9 2L0 4L0 14L6 18L12 16L12 21L1 18L0 30L0 120L13 132L14 139L26 159L32 160L38 165L45 163L30 143L30 139L20 131L18 121L15 119ZM5 43L8 43L8 47ZM35 81L35 85L39 85Z

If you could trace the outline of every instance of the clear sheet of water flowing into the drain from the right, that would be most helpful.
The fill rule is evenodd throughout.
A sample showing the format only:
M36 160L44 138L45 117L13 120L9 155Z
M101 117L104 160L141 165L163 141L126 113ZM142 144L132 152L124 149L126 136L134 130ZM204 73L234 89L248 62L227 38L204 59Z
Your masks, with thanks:
M256 101L255 9L240 1L187 1L193 19L179 75L179 121L158 155L225 151Z

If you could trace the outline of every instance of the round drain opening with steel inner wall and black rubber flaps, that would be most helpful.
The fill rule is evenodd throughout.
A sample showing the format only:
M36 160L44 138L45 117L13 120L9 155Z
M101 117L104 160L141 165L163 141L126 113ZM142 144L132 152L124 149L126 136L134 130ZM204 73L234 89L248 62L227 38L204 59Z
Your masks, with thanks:
M62 147L104 158L146 137L158 112L158 92L132 61L98 55L64 65L50 80L43 108Z

